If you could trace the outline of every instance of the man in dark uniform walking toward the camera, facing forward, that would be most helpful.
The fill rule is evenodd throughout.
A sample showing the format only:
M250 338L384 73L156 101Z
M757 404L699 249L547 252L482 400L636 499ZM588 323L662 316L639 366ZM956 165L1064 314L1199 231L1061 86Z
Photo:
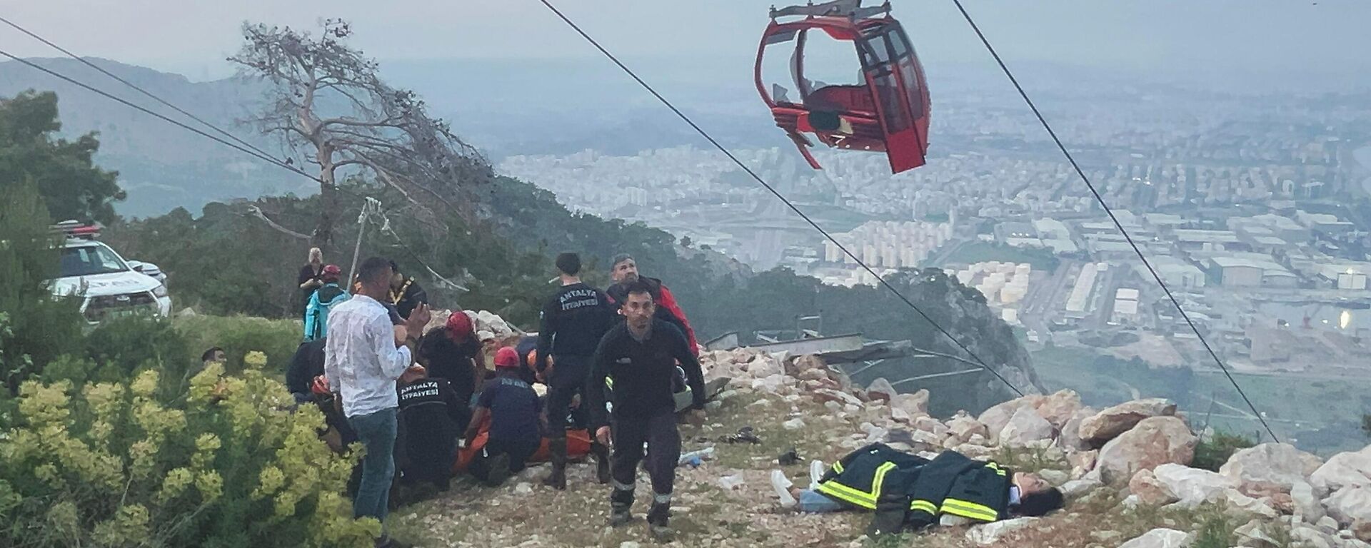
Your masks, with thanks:
M647 444L647 474L653 481L653 506L647 523L655 537L670 534L672 485L676 481L676 460L680 459L680 432L676 429L676 399L672 379L676 363L686 370L696 415L705 407L705 377L699 362L687 348L686 336L676 326L654 318L657 304L651 288L643 281L628 284L620 312L620 323L605 334L591 362L587 381L591 426L595 438L609 445L614 437L610 458L614 489L610 495L610 525L618 526L632 519L633 482L638 463L643 460ZM606 377L614 378L610 397L613 414L605 410ZM696 416L699 419L699 416ZM613 430L610 429L613 423Z

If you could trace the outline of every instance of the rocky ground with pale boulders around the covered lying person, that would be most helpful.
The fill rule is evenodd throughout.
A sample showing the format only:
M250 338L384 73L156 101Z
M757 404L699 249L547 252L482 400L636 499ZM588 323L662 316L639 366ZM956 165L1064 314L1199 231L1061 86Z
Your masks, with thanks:
M729 378L703 425L683 425L683 451L713 447L677 471L672 526L654 543L642 512L610 529L609 488L591 464L569 469L569 488L539 485L540 464L484 488L462 480L448 493L392 514L396 537L424 547L1248 547L1371 548L1371 448L1327 462L1291 445L1237 452L1217 473L1191 469L1200 440L1175 406L1137 400L1108 410L1069 392L1031 395L979 416L928 416L927 392L895 393L884 381L853 386L814 356L749 349L706 352L709 378ZM751 427L760 443L729 443ZM771 470L806 485L809 459L834 459L871 441L927 452L954 448L1016 470L1039 471L1068 495L1065 510L973 527L871 540L861 512L780 510ZM795 449L790 466L777 456Z

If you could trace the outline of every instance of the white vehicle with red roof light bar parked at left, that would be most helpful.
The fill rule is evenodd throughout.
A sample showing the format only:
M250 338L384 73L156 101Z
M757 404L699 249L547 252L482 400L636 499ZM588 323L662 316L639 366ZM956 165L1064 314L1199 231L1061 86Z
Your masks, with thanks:
M49 281L52 293L77 296L81 315L90 325L134 314L171 314L166 274L156 264L123 260L119 253L96 240L97 226L74 221L53 225L66 240L62 245L62 270Z

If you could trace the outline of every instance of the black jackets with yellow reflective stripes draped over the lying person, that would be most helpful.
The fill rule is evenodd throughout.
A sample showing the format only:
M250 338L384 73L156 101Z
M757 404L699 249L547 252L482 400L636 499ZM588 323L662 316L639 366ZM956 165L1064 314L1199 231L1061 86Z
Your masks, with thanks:
M979 522L1008 518L1010 478L1009 469L956 451L928 460L877 443L834 463L818 492L886 514L877 519L901 529L921 529L942 514Z

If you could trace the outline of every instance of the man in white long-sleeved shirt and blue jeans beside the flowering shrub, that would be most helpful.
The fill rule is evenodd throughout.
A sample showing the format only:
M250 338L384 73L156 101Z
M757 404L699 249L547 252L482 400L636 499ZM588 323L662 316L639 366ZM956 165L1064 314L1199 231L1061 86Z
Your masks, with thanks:
M400 329L381 304L389 293L391 263L381 258L362 262L358 279L361 293L352 296L329 315L332 329L325 345L324 370L329 390L339 393L343 414L358 441L366 448L362 458L362 481L352 500L356 518L373 516L383 525L377 547L395 545L384 534L391 481L395 477L396 408L395 381L413 363L410 349L398 344L403 330L413 341L429 321L428 307L420 304Z

